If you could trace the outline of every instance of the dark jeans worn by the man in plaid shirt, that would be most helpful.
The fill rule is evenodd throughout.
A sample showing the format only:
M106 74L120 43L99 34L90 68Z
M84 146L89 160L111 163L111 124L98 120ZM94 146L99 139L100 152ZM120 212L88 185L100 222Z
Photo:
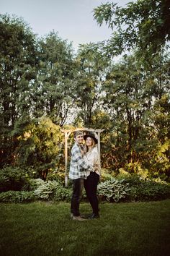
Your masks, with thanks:
M79 205L84 187L84 179L73 179L73 195L71 198L71 213L73 216L80 216Z

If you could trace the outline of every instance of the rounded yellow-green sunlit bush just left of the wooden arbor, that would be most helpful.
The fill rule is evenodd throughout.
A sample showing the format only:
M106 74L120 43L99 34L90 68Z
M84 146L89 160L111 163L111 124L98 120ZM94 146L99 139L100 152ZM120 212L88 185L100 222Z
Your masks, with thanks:
M60 127L45 116L35 120L18 135L17 161L19 165L31 166L37 176L46 179L49 170L61 163L63 134Z

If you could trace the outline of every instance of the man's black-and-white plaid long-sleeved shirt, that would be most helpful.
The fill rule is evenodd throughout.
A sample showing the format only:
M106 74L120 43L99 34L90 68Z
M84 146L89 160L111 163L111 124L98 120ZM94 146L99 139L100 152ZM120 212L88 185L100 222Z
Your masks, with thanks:
M86 179L86 170L93 171L93 166L86 163L81 155L81 148L76 143L71 149L70 179Z

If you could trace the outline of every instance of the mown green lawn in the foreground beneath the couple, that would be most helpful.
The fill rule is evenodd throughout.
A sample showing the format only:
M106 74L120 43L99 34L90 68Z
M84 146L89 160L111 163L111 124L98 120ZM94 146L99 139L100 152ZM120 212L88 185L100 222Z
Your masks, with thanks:
M68 203L0 204L2 256L170 255L170 200L103 203L99 219L72 221ZM81 203L81 213L90 213Z

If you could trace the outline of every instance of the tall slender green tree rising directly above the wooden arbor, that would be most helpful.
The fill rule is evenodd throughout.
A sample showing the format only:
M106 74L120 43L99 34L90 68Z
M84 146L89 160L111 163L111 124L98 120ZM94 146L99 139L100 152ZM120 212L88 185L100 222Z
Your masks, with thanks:
M93 112L100 105L102 80L109 61L94 43L81 45L76 61L78 73L72 97L79 108L78 120L89 127L92 126Z

